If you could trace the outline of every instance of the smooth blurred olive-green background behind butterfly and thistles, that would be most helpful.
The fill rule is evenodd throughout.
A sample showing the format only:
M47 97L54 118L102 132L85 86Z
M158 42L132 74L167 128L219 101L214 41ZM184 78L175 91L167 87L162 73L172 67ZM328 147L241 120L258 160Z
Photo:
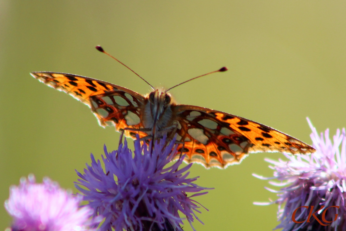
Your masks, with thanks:
M154 86L183 84L176 101L239 115L308 144L308 116L318 131L345 126L345 1L0 1L0 202L10 185L34 173L74 190L77 177L117 148L119 133L101 128L90 109L39 83L31 71L84 75L147 93L150 87L95 50L102 45ZM225 170L191 168L201 186L203 230L271 230L276 205L264 157ZM75 192L75 190L74 190ZM10 224L0 208L0 230ZM192 230L188 223L184 230Z

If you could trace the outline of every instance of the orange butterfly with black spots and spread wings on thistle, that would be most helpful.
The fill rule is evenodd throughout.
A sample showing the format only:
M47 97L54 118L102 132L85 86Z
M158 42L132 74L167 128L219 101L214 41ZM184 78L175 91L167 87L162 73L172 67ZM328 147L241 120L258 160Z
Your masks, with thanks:
M102 127L115 126L125 136L141 139L176 134L185 162L226 168L249 153L309 154L304 142L263 124L208 108L177 104L169 92L154 89L142 95L112 83L84 76L32 72L31 75L88 105Z

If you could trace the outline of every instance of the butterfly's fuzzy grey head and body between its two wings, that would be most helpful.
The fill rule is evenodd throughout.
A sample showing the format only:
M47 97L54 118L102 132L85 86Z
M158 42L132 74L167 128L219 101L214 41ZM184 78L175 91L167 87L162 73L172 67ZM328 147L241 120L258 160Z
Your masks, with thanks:
M174 103L171 94L163 89L155 89L146 95L142 117L144 128L151 129L150 133L155 133L155 136L162 136L173 130L172 107L174 107Z

